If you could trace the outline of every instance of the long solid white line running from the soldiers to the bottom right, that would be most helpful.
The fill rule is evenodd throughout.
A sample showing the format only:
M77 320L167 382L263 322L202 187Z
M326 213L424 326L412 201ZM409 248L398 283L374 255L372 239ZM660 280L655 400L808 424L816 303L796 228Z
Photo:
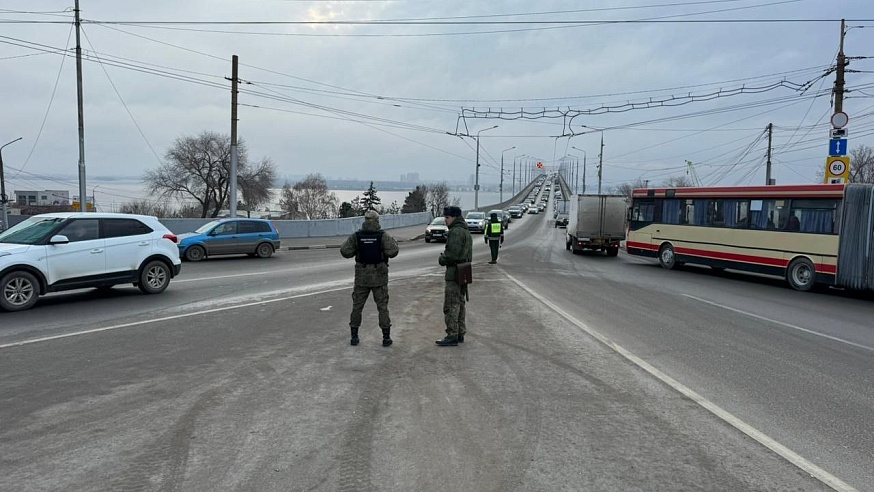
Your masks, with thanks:
M571 323L576 325L579 329L583 330L585 333L587 333L592 338L603 343L604 345L611 348L613 351L615 351L616 353L618 353L619 355L621 355L622 357L624 357L625 359L630 361L632 364L636 365L637 367L640 367L644 371L646 371L649 374L651 374L652 376L654 376L656 379L662 381L663 383L665 383L668 386L670 386L671 388L673 388L675 391L679 392L683 396L694 401L699 406L701 406L702 408L704 408L708 412L715 415L717 418L723 420L724 422L726 422L730 426L734 427L735 429L743 432L747 436L755 439L757 442L759 442L760 444L762 444L766 448L770 449L771 451L777 453L777 455L779 455L780 457L782 457L786 461L790 462L791 464L795 465L796 467L800 468L805 473L810 474L811 476L813 476L814 478L816 478L820 482L831 487L833 490L836 490L839 492L858 492L854 487L850 486L847 483L844 483L844 481L842 481L838 477L836 477L836 476L832 475L831 473L823 470L822 468L816 466L812 462L806 460L798 453L792 451L791 449L780 444L779 442L775 441L774 439L771 439L765 433L763 433L763 432L759 431L758 429L756 429L755 427L747 424L746 422L739 419L738 417L735 417L733 414L729 413L727 410L724 410L722 407L719 407L715 403L713 403L710 400L699 395L698 393L693 391L691 388L680 383L679 381L675 380L674 378L668 376L667 374L663 373L662 371L656 369L654 366L652 366L648 362L644 361L640 357L634 355L633 353L629 352L625 348L621 347L620 345L618 345L616 342L614 342L610 338L601 334L599 331L595 330L594 328L589 327L587 324L574 318L570 313L568 313L564 309L558 307L557 305L553 304L552 302L550 302L549 300L547 300L546 298L544 298L543 296L541 296L537 292L531 290L530 288L528 288L527 285L516 280L513 276L507 274L506 272L504 274L507 275L507 278L509 278L511 281L513 281L516 285L518 285L523 290L525 290L529 294L531 294L532 297L539 300L544 305L548 306L550 309L555 311L557 314L559 314L563 318L567 319L568 321L570 321Z

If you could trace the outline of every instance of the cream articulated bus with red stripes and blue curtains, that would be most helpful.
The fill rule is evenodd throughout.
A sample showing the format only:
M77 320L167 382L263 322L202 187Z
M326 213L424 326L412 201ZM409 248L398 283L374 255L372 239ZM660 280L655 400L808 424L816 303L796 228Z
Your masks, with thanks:
M874 185L637 189L626 250L684 263L874 289Z

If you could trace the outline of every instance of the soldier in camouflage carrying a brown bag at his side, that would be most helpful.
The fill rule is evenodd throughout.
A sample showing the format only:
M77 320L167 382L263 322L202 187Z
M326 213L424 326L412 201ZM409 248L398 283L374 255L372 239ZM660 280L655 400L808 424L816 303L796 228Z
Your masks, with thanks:
M453 347L464 343L464 334L467 327L464 324L465 298L467 286L458 285L459 263L470 261L473 258L473 238L467 222L461 218L461 209L458 207L446 207L443 209L446 225L449 232L446 235L446 248L440 255L440 265L446 267L446 287L443 297L443 317L446 322L446 336L437 340L441 347Z

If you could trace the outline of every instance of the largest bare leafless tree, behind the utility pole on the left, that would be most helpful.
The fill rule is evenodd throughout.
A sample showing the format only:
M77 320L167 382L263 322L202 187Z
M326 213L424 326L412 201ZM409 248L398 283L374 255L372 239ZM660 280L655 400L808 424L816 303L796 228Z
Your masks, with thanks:
M144 181L150 193L194 200L200 207L201 217L217 217L222 208L228 207L230 136L205 131L196 137L177 138L165 158L166 162L157 169L146 172ZM237 183L244 197L261 196L265 191L269 193L275 172L268 159L263 159L254 169L250 168L245 142L238 143Z

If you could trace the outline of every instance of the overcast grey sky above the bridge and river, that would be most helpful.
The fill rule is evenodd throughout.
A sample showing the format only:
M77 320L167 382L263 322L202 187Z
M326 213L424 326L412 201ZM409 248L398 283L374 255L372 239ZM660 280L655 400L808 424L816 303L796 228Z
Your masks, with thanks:
M62 56L76 43L72 5L0 0L0 145L23 137L3 149L7 189L44 178L78 186L76 64ZM175 139L229 134L226 77L238 55L239 135L250 158L269 157L280 176L467 181L476 142L457 135L498 125L481 133L483 183L498 180L502 154L506 179L514 159L528 163L519 156L552 166L570 154L580 168L585 161L591 192L603 136L605 189L659 184L683 175L687 160L704 185L764 184L771 123L773 177L816 182L841 18L847 56L874 57L871 0L81 0L80 8L94 180L139 179ZM849 68L850 149L874 147L874 59Z

